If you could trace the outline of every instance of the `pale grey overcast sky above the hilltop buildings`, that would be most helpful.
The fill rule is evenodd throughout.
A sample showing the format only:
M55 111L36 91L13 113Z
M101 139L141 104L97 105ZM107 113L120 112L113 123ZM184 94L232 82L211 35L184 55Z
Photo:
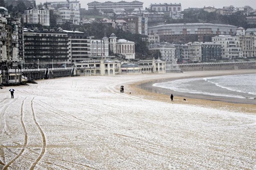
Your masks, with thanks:
M47 0L47 2L58 2L66 0ZM70 0L72 1L72 0ZM78 0L77 0L78 1ZM93 2L94 0L80 0L81 8L88 9L87 3ZM98 2L119 2L121 0L96 0ZM125 0L127 2L132 2L133 0ZM181 3L182 11L188 7L204 7L204 6L214 6L215 8L223 8L223 6L233 5L235 7L242 7L244 5L249 5L253 9L256 9L256 0L139 0L143 2L143 8L149 7L152 3ZM36 4L44 3L46 0L36 0Z

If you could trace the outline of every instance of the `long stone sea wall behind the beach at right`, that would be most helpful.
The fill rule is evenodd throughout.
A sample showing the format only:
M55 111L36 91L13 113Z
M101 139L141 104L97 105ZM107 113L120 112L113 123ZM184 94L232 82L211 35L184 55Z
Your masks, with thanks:
M224 62L224 63L193 63L193 64L178 64L178 65L181 71L256 69L256 61Z

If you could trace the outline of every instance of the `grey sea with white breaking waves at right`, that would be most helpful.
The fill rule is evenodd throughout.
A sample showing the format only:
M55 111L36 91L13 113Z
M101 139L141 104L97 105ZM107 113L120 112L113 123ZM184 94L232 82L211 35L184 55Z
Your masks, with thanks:
M239 74L204 78L186 78L154 83L153 86L176 92L225 98L255 100L256 74Z

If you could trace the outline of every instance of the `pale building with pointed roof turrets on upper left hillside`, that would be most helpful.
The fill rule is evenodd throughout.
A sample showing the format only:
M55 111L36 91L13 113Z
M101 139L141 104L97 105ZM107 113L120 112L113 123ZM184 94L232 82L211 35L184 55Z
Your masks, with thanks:
M37 7L26 10L23 14L23 23L50 26L50 12L48 9L40 10Z

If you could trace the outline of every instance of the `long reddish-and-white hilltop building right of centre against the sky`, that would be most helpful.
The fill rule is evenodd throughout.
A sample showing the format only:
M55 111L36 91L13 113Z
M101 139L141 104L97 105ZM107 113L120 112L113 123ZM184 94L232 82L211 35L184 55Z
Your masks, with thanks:
M150 4L150 9L157 12L165 12L165 11L181 11L181 4Z

